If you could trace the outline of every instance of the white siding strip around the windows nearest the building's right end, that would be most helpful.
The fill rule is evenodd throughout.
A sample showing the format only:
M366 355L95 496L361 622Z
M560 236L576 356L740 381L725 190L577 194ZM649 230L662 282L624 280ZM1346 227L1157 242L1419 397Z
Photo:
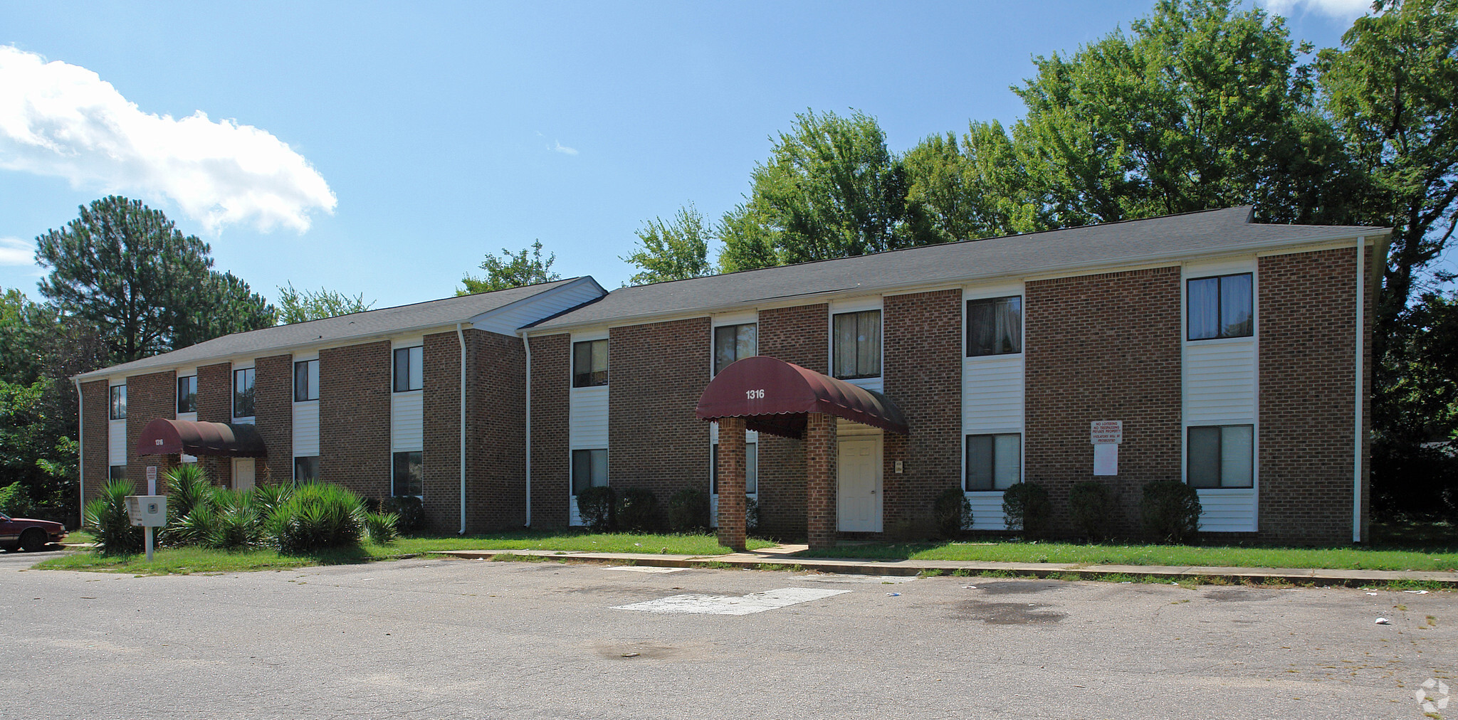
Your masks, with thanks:
M1184 340L1181 360L1181 404L1184 423L1181 446L1184 458L1181 472L1188 474L1190 427L1198 426L1255 426L1257 439L1251 452L1254 475L1248 488L1197 488L1200 494L1200 529L1204 532L1255 532L1258 529L1260 497L1260 427L1257 405L1260 398L1258 356L1260 278L1255 277L1254 259L1239 259L1219 264L1187 265L1184 268L1182 293L1188 293L1188 280L1200 277L1251 273L1252 315L1257 318L1254 334L1235 338ZM1188 299L1185 299L1188 306ZM1188 337L1188 308L1181 310L1181 335ZM1185 478L1188 481L1188 478Z

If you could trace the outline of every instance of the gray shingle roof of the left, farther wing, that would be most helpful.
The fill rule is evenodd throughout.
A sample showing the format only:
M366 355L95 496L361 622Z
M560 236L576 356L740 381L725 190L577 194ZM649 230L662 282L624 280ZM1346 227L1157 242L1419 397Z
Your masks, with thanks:
M261 357L271 350L283 350L297 345L324 344L350 338L367 338L402 332L413 328L432 328L464 322L483 312L504 308L534 294L561 287L573 278L539 283L535 286L513 287L494 293L465 294L459 297L443 297L421 303L401 305L397 308L381 308L350 315L338 315L321 321L295 322L292 325L276 325L249 332L235 332L206 343L174 350L160 356L143 357L130 363L114 364L101 370L77 375L80 379L115 375L120 372L136 372L149 367L176 367L230 356Z

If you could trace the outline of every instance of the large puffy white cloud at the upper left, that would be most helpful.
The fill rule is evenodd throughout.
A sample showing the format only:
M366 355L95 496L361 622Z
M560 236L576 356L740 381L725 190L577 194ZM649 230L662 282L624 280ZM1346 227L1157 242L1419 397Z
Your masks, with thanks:
M309 229L337 200L324 176L265 130L143 112L96 73L0 45L0 168L73 187L169 198L210 233L251 223Z

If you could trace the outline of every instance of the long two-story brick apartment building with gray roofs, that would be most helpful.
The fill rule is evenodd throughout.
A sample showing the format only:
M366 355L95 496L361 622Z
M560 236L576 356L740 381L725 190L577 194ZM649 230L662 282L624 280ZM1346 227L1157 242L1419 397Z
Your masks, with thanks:
M153 420L182 430L147 436L166 449L200 443L178 421L251 423L208 450L214 478L420 494L442 532L569 525L592 485L713 493L719 429L701 418L720 418L749 429L726 440L726 487L742 475L777 535L917 532L949 487L1002 529L1021 480L1059 513L1073 482L1108 482L1133 531L1142 485L1182 480L1209 532L1363 539L1387 235L1239 207L229 335L77 377L82 493L188 459L137 455ZM830 410L776 405L765 383ZM760 392L765 414L712 412L706 389ZM257 443L267 456L226 458Z

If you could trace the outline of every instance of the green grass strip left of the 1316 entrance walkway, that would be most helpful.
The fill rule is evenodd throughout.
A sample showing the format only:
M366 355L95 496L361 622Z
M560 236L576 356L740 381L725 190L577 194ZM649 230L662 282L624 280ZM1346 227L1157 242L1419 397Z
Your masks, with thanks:
M754 549L773 545L768 541L749 541L749 548ZM467 538L401 538L389 545L364 542L359 548L319 555L280 555L273 549L157 548L152 563L147 563L143 554L104 555L96 551L76 551L38 563L35 568L131 574L245 573L367 563L439 549L555 549L564 552L666 552L672 555L722 555L729 552L729 548L719 547L713 535L516 532Z

